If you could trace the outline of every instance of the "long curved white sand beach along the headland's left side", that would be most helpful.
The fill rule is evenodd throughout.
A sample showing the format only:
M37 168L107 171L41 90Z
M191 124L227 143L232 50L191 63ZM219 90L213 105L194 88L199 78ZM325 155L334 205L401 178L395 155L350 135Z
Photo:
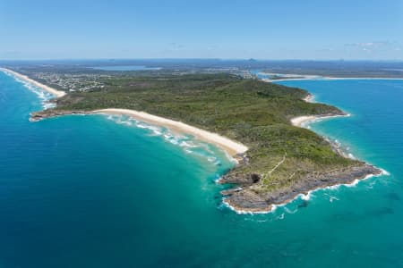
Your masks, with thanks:
M167 118L152 115L150 113L138 112L129 109L102 109L93 111L93 113L107 113L107 114L124 114L133 117L139 121L149 122L151 124L156 124L159 126L166 127L170 130L176 130L181 133L191 134L196 138L215 144L227 151L231 156L236 154L242 154L248 150L243 144L238 143L232 139L225 138L219 134L212 133L206 130L201 130L185 124L181 121L173 121Z

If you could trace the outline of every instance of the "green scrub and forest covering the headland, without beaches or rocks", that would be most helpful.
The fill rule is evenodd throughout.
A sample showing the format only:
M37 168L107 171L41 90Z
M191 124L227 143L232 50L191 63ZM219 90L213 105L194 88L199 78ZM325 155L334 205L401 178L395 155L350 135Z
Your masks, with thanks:
M70 93L56 110L127 108L184 121L218 132L250 148L249 161L234 174L259 174L257 190L284 188L309 172L328 172L356 164L335 153L311 130L292 126L292 117L340 114L330 105L306 103L308 93L229 74L112 77L99 91Z

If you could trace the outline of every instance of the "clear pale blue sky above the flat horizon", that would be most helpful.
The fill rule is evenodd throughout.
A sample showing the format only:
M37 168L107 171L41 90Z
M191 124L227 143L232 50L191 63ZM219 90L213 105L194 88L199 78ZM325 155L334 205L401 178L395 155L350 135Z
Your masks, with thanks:
M0 60L403 60L403 1L0 0L0 34Z

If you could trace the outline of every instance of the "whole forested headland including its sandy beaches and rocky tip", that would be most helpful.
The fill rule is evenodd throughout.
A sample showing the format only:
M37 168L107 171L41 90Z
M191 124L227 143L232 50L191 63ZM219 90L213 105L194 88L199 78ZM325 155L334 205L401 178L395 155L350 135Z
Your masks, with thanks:
M127 114L216 144L238 160L219 180L235 186L222 194L236 211L268 212L310 190L381 173L298 127L311 116L346 115L307 102L310 95L300 88L226 73L112 76L101 82L97 90L55 94L56 107L32 113L32 121L73 113Z

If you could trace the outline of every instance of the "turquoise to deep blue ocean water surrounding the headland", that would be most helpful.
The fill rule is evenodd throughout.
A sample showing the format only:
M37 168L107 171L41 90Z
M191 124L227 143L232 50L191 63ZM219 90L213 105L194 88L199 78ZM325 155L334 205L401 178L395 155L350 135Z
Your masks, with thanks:
M0 267L403 266L403 81L283 83L352 113L312 128L390 176L236 214L219 149L128 118L30 122L49 96L0 72Z

